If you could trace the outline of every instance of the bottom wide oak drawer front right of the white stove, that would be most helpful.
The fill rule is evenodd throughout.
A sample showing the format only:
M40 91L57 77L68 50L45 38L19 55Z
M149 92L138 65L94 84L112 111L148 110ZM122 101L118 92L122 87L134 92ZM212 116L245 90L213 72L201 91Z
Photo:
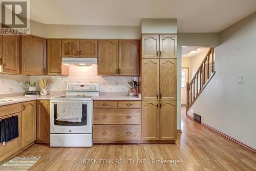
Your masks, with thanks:
M93 125L94 141L135 141L140 139L140 125Z

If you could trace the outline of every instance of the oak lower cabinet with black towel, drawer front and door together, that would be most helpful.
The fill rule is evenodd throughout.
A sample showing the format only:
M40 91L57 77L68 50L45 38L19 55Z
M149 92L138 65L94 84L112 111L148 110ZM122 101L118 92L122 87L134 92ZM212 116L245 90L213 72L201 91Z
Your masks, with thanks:
M18 116L19 136L9 142L6 142L5 145L0 143L0 162L22 149L22 103L0 106L1 119L6 119L15 115Z

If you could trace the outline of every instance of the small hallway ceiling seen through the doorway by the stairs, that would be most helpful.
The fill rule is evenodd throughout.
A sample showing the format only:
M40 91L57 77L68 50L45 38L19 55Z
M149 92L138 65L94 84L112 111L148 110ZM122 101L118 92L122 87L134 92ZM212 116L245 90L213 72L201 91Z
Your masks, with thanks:
M196 53L190 53L191 51L196 50ZM182 51L182 57L194 57L201 53L207 53L210 50L210 48L205 47L193 47L193 46L183 46Z

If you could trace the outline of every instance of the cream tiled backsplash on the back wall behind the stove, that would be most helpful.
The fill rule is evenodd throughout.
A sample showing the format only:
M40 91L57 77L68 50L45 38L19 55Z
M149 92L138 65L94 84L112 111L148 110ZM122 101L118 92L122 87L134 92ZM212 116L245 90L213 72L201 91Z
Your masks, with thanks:
M37 82L40 78L51 80L48 91L66 91L67 83L99 83L101 92L127 92L128 81L138 80L131 76L98 76L97 65L77 66L69 65L69 76L30 76L30 82ZM39 91L39 87L37 86Z

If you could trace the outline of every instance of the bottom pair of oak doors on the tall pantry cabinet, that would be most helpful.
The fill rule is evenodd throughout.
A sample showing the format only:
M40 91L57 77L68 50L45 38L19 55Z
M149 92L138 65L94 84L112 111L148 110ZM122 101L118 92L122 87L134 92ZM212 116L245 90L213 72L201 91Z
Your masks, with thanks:
M176 140L176 101L142 100L142 140Z

